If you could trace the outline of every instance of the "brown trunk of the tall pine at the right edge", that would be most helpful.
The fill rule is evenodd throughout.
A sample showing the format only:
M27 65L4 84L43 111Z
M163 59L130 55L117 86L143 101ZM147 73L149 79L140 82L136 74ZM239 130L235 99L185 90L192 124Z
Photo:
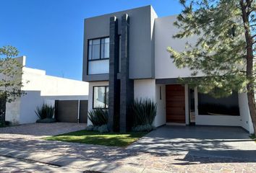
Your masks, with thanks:
M253 128L255 130L256 136L256 105L255 105L255 86L254 86L254 76L253 76L253 39L251 35L251 30L249 27L249 4L251 1L247 1L247 4L244 4L244 0L240 0L240 6L242 10L242 19L244 22L244 35L246 40L246 51L247 51L247 99L249 105L249 114L252 118Z

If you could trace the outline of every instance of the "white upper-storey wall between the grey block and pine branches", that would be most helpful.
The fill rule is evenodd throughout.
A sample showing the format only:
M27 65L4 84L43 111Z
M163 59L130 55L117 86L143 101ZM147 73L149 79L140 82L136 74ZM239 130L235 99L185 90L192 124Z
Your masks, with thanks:
M170 58L167 48L172 47L177 51L185 48L187 41L195 43L197 37L189 39L175 39L172 36L179 30L174 26L176 16L161 17L155 19L155 79L189 77L188 68L177 68Z

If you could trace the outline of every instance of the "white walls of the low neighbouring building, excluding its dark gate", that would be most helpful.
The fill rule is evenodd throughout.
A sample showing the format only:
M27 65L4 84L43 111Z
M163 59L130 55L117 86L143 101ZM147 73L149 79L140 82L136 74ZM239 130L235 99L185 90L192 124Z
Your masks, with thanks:
M25 56L22 56L25 66ZM89 84L46 75L46 71L27 68L22 69L22 91L25 95L14 102L7 103L6 120L13 124L35 123L36 107L43 103L54 105L56 99L88 99Z

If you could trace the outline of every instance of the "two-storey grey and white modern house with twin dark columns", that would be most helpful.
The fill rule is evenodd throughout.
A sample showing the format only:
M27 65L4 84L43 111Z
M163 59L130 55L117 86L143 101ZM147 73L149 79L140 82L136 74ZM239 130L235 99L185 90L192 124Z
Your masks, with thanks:
M187 40L174 39L176 16L158 17L152 6L85 19L83 81L89 82L88 110L108 109L108 125L129 128L129 106L135 99L157 103L156 127L230 125L253 132L247 94L215 99L197 92L179 77L191 77L187 68L176 68L166 48L183 50ZM90 122L88 122L90 123Z

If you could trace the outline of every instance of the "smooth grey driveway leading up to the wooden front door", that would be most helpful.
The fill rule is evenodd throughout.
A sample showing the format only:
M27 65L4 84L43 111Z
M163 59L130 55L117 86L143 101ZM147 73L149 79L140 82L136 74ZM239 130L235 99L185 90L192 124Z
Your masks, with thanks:
M129 148L153 154L211 156L256 161L256 143L242 128L164 126Z

